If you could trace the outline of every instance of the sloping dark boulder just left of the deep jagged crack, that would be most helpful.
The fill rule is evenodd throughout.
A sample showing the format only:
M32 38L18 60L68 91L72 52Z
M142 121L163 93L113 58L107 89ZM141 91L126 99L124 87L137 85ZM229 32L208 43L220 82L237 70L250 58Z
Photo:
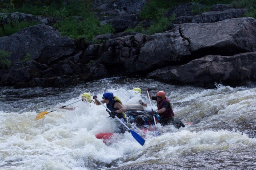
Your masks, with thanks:
M148 71L172 62L180 61L181 56L191 55L189 43L180 36L179 28L152 35L140 49L140 57L133 71Z

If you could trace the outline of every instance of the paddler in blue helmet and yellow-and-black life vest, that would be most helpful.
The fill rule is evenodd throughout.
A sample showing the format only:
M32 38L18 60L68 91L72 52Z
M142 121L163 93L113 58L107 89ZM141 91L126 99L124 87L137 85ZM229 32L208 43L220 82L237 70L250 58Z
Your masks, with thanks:
M127 123L126 120L126 116L124 114L124 112L126 112L126 108L123 106L121 100L114 96L114 94L112 92L105 92L103 94L103 97L100 102L98 102L98 100L96 100L96 98L98 98L97 96L93 96L93 99L95 100L95 104L98 106L100 105L100 102L102 102L102 104L106 103L106 106L108 107L108 109L110 109L110 117L112 117L113 119L115 118L115 116L117 116L123 123ZM120 128L120 133L124 133L126 131L126 128L120 123L119 125Z

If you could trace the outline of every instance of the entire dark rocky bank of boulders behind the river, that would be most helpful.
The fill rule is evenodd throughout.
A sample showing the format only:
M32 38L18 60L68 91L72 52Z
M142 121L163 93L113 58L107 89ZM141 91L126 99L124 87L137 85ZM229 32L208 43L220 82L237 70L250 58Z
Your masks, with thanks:
M145 2L95 0L101 23L116 30L95 37L104 43L62 37L50 24L0 37L0 50L9 51L13 63L0 70L0 86L62 87L117 75L210 87L215 82L237 86L256 80L256 20L242 18L245 9L217 4L210 12L193 15L191 4L184 4L166 13L178 17L163 33L123 33L147 22L138 20ZM180 13L183 8L187 14ZM27 53L33 61L20 62Z

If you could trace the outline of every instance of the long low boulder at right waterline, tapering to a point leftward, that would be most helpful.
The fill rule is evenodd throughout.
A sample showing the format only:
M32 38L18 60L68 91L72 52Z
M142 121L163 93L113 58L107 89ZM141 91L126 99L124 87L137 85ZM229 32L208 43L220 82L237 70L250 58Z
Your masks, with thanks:
M256 52L234 56L208 55L181 66L169 66L148 74L164 82L214 87L216 82L239 86L256 80Z

